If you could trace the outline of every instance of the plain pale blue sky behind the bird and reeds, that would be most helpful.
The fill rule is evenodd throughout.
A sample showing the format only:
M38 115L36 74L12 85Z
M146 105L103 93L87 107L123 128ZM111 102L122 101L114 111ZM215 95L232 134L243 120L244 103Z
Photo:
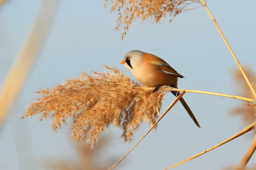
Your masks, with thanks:
M38 122L38 116L20 117L36 98L34 92L62 84L78 76L80 71L103 72L103 63L116 66L134 79L119 64L130 50L142 50L164 59L185 77L179 79L179 88L241 95L239 83L233 76L237 65L203 7L181 13L171 23L168 18L159 25L137 19L122 41L121 32L111 31L118 16L110 13L110 5L104 8L104 3L103 0L59 1L45 43L1 125L1 169L43 170L58 161L76 164L79 155L70 137L71 125L63 125L53 133L51 118ZM1 84L40 4L41 1L7 0L0 7ZM240 64L256 73L256 1L209 0L207 6ZM174 98L172 94L166 95L160 114ZM151 131L114 169L164 169L219 144L249 125L242 122L242 117L230 114L232 108L241 104L237 99L195 93L186 93L184 98L201 128L177 103L159 122L157 131ZM134 141L125 144L120 138L121 129L111 126L100 135L99 140L108 140L108 144L99 151L96 161L110 168L149 128L148 123L143 123ZM255 131L174 169L215 170L238 164L252 143L253 133ZM256 164L255 153L249 166L252 164Z

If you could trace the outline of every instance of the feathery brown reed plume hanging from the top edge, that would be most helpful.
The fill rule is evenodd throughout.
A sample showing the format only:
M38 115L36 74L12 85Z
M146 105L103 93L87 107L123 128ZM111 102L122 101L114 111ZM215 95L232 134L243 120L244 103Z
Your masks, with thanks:
M119 17L116 19L117 24L114 30L119 30L119 27L124 25L124 32L122 32L121 39L123 39L126 31L128 31L130 24L136 18L140 18L141 21L147 20L148 18L153 18L153 23L159 23L161 18L169 15L171 22L174 17L176 17L181 12L188 11L189 6L192 3L198 3L202 5L201 0L106 0L108 3L112 4L111 12L117 12ZM206 0L204 0L206 3ZM106 7L106 4L105 4Z

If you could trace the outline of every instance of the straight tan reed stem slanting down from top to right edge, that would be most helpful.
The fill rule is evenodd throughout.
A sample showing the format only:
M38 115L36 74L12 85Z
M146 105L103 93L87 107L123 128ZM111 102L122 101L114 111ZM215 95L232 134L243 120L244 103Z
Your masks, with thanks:
M250 90L252 91L252 93L253 93L253 95L254 95L254 98L256 99L256 93L255 93L255 91L254 91L254 88L252 87L252 84L250 83L249 79L247 78L246 74L244 73L244 70L243 70L241 64L239 63L239 61L237 60L237 58L236 58L236 56L235 56L233 50L231 49L231 47L230 47L228 41L226 40L226 38L225 38L225 36L223 35L222 31L220 30L220 28L219 28L217 22L215 21L214 17L212 16L211 12L209 11L208 7L206 6L206 3L205 3L203 0L201 0L201 2L202 2L202 4L204 5L204 7L205 7L206 11L208 12L209 16L211 17L211 19L212 19L214 25L216 26L217 30L219 31L219 34L221 35L221 37L222 37L222 39L224 40L225 44L227 45L227 47L228 47L228 49L229 49L229 52L231 53L232 57L234 58L236 64L238 65L238 67L239 67L241 73L242 73L243 76L244 76L244 79L245 79L246 83L248 84Z

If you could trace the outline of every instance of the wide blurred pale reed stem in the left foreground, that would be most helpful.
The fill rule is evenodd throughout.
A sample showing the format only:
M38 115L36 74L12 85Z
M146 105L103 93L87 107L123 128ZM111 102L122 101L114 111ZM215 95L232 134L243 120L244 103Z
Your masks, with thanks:
M41 49L53 19L57 7L56 4L57 1L51 0L42 2L40 10L33 21L34 23L23 42L22 48L3 81L2 88L0 89L0 124L12 106L12 103L16 100L37 53Z

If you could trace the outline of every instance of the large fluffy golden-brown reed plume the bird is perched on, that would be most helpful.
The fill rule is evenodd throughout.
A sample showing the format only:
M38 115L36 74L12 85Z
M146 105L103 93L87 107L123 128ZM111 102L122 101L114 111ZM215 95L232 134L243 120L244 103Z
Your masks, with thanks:
M22 118L40 114L41 121L51 116L55 131L71 118L72 139L76 142L87 139L92 147L98 135L113 123L123 129L124 140L131 142L142 120L154 125L161 101L171 89L163 86L152 93L153 87L138 85L117 68L104 66L111 73L93 72L94 76L90 76L82 72L80 78L39 90L36 93L41 98L30 104Z

